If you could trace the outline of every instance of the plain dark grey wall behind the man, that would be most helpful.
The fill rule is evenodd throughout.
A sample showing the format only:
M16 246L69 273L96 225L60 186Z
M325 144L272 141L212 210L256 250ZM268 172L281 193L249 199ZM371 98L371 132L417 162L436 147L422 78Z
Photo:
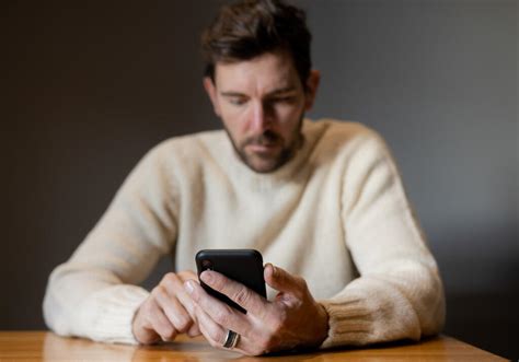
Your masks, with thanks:
M2 2L0 329L44 328L48 273L149 148L219 127L197 47L219 3ZM518 358L517 1L297 3L323 73L310 116L385 137L441 268L446 332Z

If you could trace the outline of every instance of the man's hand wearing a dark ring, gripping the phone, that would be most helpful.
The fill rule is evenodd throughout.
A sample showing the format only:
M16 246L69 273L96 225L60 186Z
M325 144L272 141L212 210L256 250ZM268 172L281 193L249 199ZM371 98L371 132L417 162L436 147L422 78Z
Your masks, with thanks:
M195 301L201 334L211 346L222 348L228 330L233 330L240 335L234 350L249 355L320 346L327 337L327 314L310 294L304 279L270 264L265 266L264 276L267 284L279 291L273 302L216 271L200 275L206 284L247 314L207 294L197 282L187 281L185 288Z

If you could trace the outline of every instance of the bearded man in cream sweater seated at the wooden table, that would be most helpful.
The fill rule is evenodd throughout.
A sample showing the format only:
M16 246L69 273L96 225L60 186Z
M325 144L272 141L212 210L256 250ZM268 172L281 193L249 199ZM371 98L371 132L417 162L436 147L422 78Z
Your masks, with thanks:
M310 38L304 13L280 1L222 8L203 48L224 131L166 140L141 160L50 276L50 328L129 343L201 334L245 354L440 330L437 266L383 140L303 118L320 79ZM268 300L212 271L200 278L247 314L205 293L193 271L203 248L261 250ZM151 293L135 285L164 254L181 271Z

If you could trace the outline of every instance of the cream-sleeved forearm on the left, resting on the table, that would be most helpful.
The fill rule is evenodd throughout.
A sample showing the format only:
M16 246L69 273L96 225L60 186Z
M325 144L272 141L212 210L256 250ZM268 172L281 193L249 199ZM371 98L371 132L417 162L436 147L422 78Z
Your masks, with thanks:
M136 343L131 320L148 292L113 276L58 267L44 300L47 326L61 336L105 342Z

